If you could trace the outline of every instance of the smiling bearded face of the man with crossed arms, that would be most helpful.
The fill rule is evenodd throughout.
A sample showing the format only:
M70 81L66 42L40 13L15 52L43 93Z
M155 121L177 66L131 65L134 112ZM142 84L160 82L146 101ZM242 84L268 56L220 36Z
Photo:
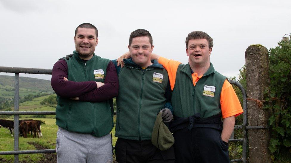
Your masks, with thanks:
M91 59L95 51L95 46L98 44L95 29L78 28L74 41L79 57L84 60Z

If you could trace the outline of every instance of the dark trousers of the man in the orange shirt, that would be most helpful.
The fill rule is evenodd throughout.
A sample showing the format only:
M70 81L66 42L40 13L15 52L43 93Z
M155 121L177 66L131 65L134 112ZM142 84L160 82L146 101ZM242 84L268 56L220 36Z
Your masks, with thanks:
M177 163L229 162L228 145L221 140L221 131L213 128L187 127L174 132Z

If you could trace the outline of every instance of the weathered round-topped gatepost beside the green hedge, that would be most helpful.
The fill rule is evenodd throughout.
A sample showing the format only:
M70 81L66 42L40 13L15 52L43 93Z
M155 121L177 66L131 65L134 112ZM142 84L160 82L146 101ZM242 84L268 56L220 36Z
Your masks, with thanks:
M250 45L245 51L247 98L264 100L264 91L270 85L268 50L262 45ZM254 100L247 101L249 126L267 126L270 112L263 110ZM268 149L270 128L248 129L249 162L272 162Z

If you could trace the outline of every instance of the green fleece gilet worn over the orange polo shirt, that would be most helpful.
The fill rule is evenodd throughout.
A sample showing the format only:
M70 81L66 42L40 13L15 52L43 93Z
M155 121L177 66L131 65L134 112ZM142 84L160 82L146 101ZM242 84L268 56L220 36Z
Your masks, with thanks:
M221 112L220 93L227 77L210 67L193 85L189 64L180 64L177 69L175 86L172 91L174 116L186 118L196 113L208 118Z

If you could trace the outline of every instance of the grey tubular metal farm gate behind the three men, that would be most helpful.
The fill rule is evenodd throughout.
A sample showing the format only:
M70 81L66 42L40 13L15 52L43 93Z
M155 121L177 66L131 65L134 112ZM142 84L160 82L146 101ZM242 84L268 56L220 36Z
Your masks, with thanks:
M52 69L35 69L35 68L21 68L21 67L0 67L0 72L15 73L15 95L14 95L14 111L0 111L0 115L14 115L14 151L0 151L0 155L14 155L14 162L18 163L19 154L32 154L32 153L55 153L55 149L44 150L25 150L19 151L18 145L18 120L19 115L55 115L55 111L19 111L19 73L25 74L52 74ZM242 159L233 159L230 162L247 162L247 95L242 85L234 80L229 80L230 84L236 85L242 91L243 95L243 124L234 126L234 129L243 130L243 138L233 139L233 134L229 142L242 142ZM114 112L116 115L116 112ZM114 148L114 147L113 147Z

